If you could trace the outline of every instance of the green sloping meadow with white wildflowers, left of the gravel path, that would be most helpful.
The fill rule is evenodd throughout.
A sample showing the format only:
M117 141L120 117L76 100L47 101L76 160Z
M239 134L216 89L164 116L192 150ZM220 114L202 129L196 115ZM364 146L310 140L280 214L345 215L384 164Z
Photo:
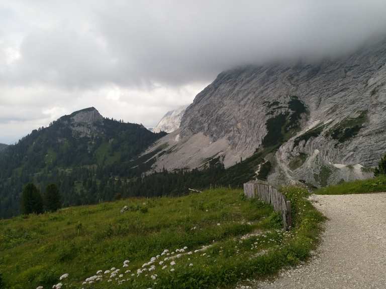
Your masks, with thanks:
M290 232L280 229L281 218L270 206L245 199L241 190L226 189L1 220L0 273L5 287L13 289L50 288L64 273L69 277L63 289L216 288L271 274L307 258L323 221L304 198L306 190L282 190L293 203ZM128 210L120 213L124 205ZM202 246L207 249L195 252ZM164 249L172 252L184 247L179 257L170 258L178 252L158 256L153 271L137 275L139 268L150 268L142 265ZM130 263L123 268L126 259ZM159 265L161 260L165 269ZM120 269L112 281L108 281L110 274L102 274L101 281L82 285L96 271L112 267Z

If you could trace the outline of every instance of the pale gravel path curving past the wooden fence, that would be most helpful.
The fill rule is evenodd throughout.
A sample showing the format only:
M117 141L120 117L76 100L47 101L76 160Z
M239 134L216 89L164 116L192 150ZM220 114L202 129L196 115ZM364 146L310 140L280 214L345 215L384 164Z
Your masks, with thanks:
M312 196L329 219L311 260L238 288L386 288L386 193Z

